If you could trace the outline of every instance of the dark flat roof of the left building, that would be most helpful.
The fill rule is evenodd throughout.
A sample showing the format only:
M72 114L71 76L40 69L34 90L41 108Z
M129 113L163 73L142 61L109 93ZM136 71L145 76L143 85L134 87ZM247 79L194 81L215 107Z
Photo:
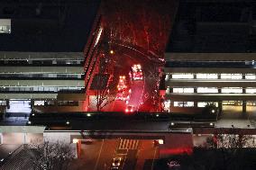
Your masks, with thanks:
M83 51L99 5L99 0L11 2L0 1L0 18L12 19L12 33L0 34L2 51Z

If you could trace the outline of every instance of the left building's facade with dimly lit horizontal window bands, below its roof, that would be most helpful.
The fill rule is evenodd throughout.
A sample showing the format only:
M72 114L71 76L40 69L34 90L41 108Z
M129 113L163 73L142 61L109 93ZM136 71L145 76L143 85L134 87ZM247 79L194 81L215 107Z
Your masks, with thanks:
M2 112L81 112L82 52L0 52Z

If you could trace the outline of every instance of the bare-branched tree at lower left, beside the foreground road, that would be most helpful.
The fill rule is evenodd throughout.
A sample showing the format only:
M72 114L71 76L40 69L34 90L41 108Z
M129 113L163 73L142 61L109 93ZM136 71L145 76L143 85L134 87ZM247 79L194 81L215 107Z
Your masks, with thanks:
M32 151L30 159L34 170L67 170L75 157L71 144L60 141L32 143L26 149Z

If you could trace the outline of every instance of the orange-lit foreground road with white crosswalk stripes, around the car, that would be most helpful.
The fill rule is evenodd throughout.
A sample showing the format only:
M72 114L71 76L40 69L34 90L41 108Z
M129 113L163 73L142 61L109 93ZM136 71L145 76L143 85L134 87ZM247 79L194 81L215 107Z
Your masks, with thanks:
M114 157L122 157L120 170L151 170L159 148L151 139L96 139L82 144L81 157L73 162L72 169L108 170Z

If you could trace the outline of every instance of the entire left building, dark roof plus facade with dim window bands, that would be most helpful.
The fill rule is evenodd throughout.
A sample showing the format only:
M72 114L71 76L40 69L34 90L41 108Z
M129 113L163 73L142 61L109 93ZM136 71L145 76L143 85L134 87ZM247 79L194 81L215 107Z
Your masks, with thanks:
M98 4L0 3L0 112L84 111L83 50Z

